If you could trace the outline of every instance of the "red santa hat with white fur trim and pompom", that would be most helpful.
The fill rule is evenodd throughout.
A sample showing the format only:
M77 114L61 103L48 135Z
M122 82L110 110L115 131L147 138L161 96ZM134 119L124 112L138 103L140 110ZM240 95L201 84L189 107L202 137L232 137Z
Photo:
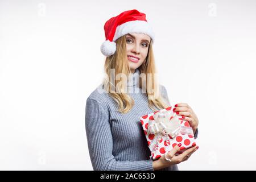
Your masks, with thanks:
M110 18L104 25L106 41L101 45L101 52L105 56L115 53L115 40L129 33L147 34L154 42L154 32L146 20L146 14L138 10L124 11Z

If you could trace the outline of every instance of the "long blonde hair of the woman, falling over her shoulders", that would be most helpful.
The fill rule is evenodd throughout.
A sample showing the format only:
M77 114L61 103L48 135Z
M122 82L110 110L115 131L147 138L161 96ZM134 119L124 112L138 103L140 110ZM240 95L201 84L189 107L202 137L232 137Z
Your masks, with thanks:
M127 61L127 53L126 53L126 35L123 35L121 38L117 39L117 51L114 53L114 55L106 57L105 60L105 73L108 78L110 78L111 69L114 69L115 75L118 73L125 74L127 77L130 73L129 64ZM160 109L164 109L168 107L168 105L163 101L162 96L159 94L159 85L155 82L155 60L154 60L154 53L152 49L152 44L149 44L148 47L148 54L146 57L146 60L143 61L142 65L138 68L141 73L151 73L150 80L148 77L146 77L146 85L152 84L154 86L154 92L150 94L150 90L145 88L146 95L148 98L154 98L154 99L148 99L148 106L150 109L156 111ZM115 76L114 76L115 77ZM122 79L121 79L122 80ZM129 110L134 105L134 100L131 98L128 94L124 92L125 90L125 84L117 84L117 80L114 79L114 83L111 82L112 80L106 79L104 80L104 85L107 85L106 88L104 88L110 96L117 102L118 105L118 111L120 113L128 113ZM111 86L116 85L115 89L118 90L118 92L112 93ZM139 80L139 87L142 88L142 80Z

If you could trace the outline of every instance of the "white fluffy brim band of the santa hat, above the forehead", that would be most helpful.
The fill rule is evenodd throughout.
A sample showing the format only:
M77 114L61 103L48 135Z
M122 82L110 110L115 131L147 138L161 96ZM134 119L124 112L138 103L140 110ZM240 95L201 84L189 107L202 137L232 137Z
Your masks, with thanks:
M154 42L155 39L155 34L148 22L142 20L133 20L123 23L117 27L113 42L118 38L121 38L121 36L129 33L147 34L152 39L152 42Z

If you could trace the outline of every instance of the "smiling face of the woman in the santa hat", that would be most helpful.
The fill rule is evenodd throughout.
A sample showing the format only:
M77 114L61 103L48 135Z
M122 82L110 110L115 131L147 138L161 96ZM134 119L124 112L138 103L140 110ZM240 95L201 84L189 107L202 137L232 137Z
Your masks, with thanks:
M139 68L147 57L150 36L146 34L127 34L126 53L131 72Z

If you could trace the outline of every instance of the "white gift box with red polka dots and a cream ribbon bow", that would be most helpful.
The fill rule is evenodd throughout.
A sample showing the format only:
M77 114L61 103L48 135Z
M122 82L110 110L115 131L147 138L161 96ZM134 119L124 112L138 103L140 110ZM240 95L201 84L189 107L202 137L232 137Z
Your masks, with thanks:
M189 122L173 112L172 107L143 115L140 118L153 160L159 159L179 143L181 147L176 154L181 154L187 148L196 146Z

